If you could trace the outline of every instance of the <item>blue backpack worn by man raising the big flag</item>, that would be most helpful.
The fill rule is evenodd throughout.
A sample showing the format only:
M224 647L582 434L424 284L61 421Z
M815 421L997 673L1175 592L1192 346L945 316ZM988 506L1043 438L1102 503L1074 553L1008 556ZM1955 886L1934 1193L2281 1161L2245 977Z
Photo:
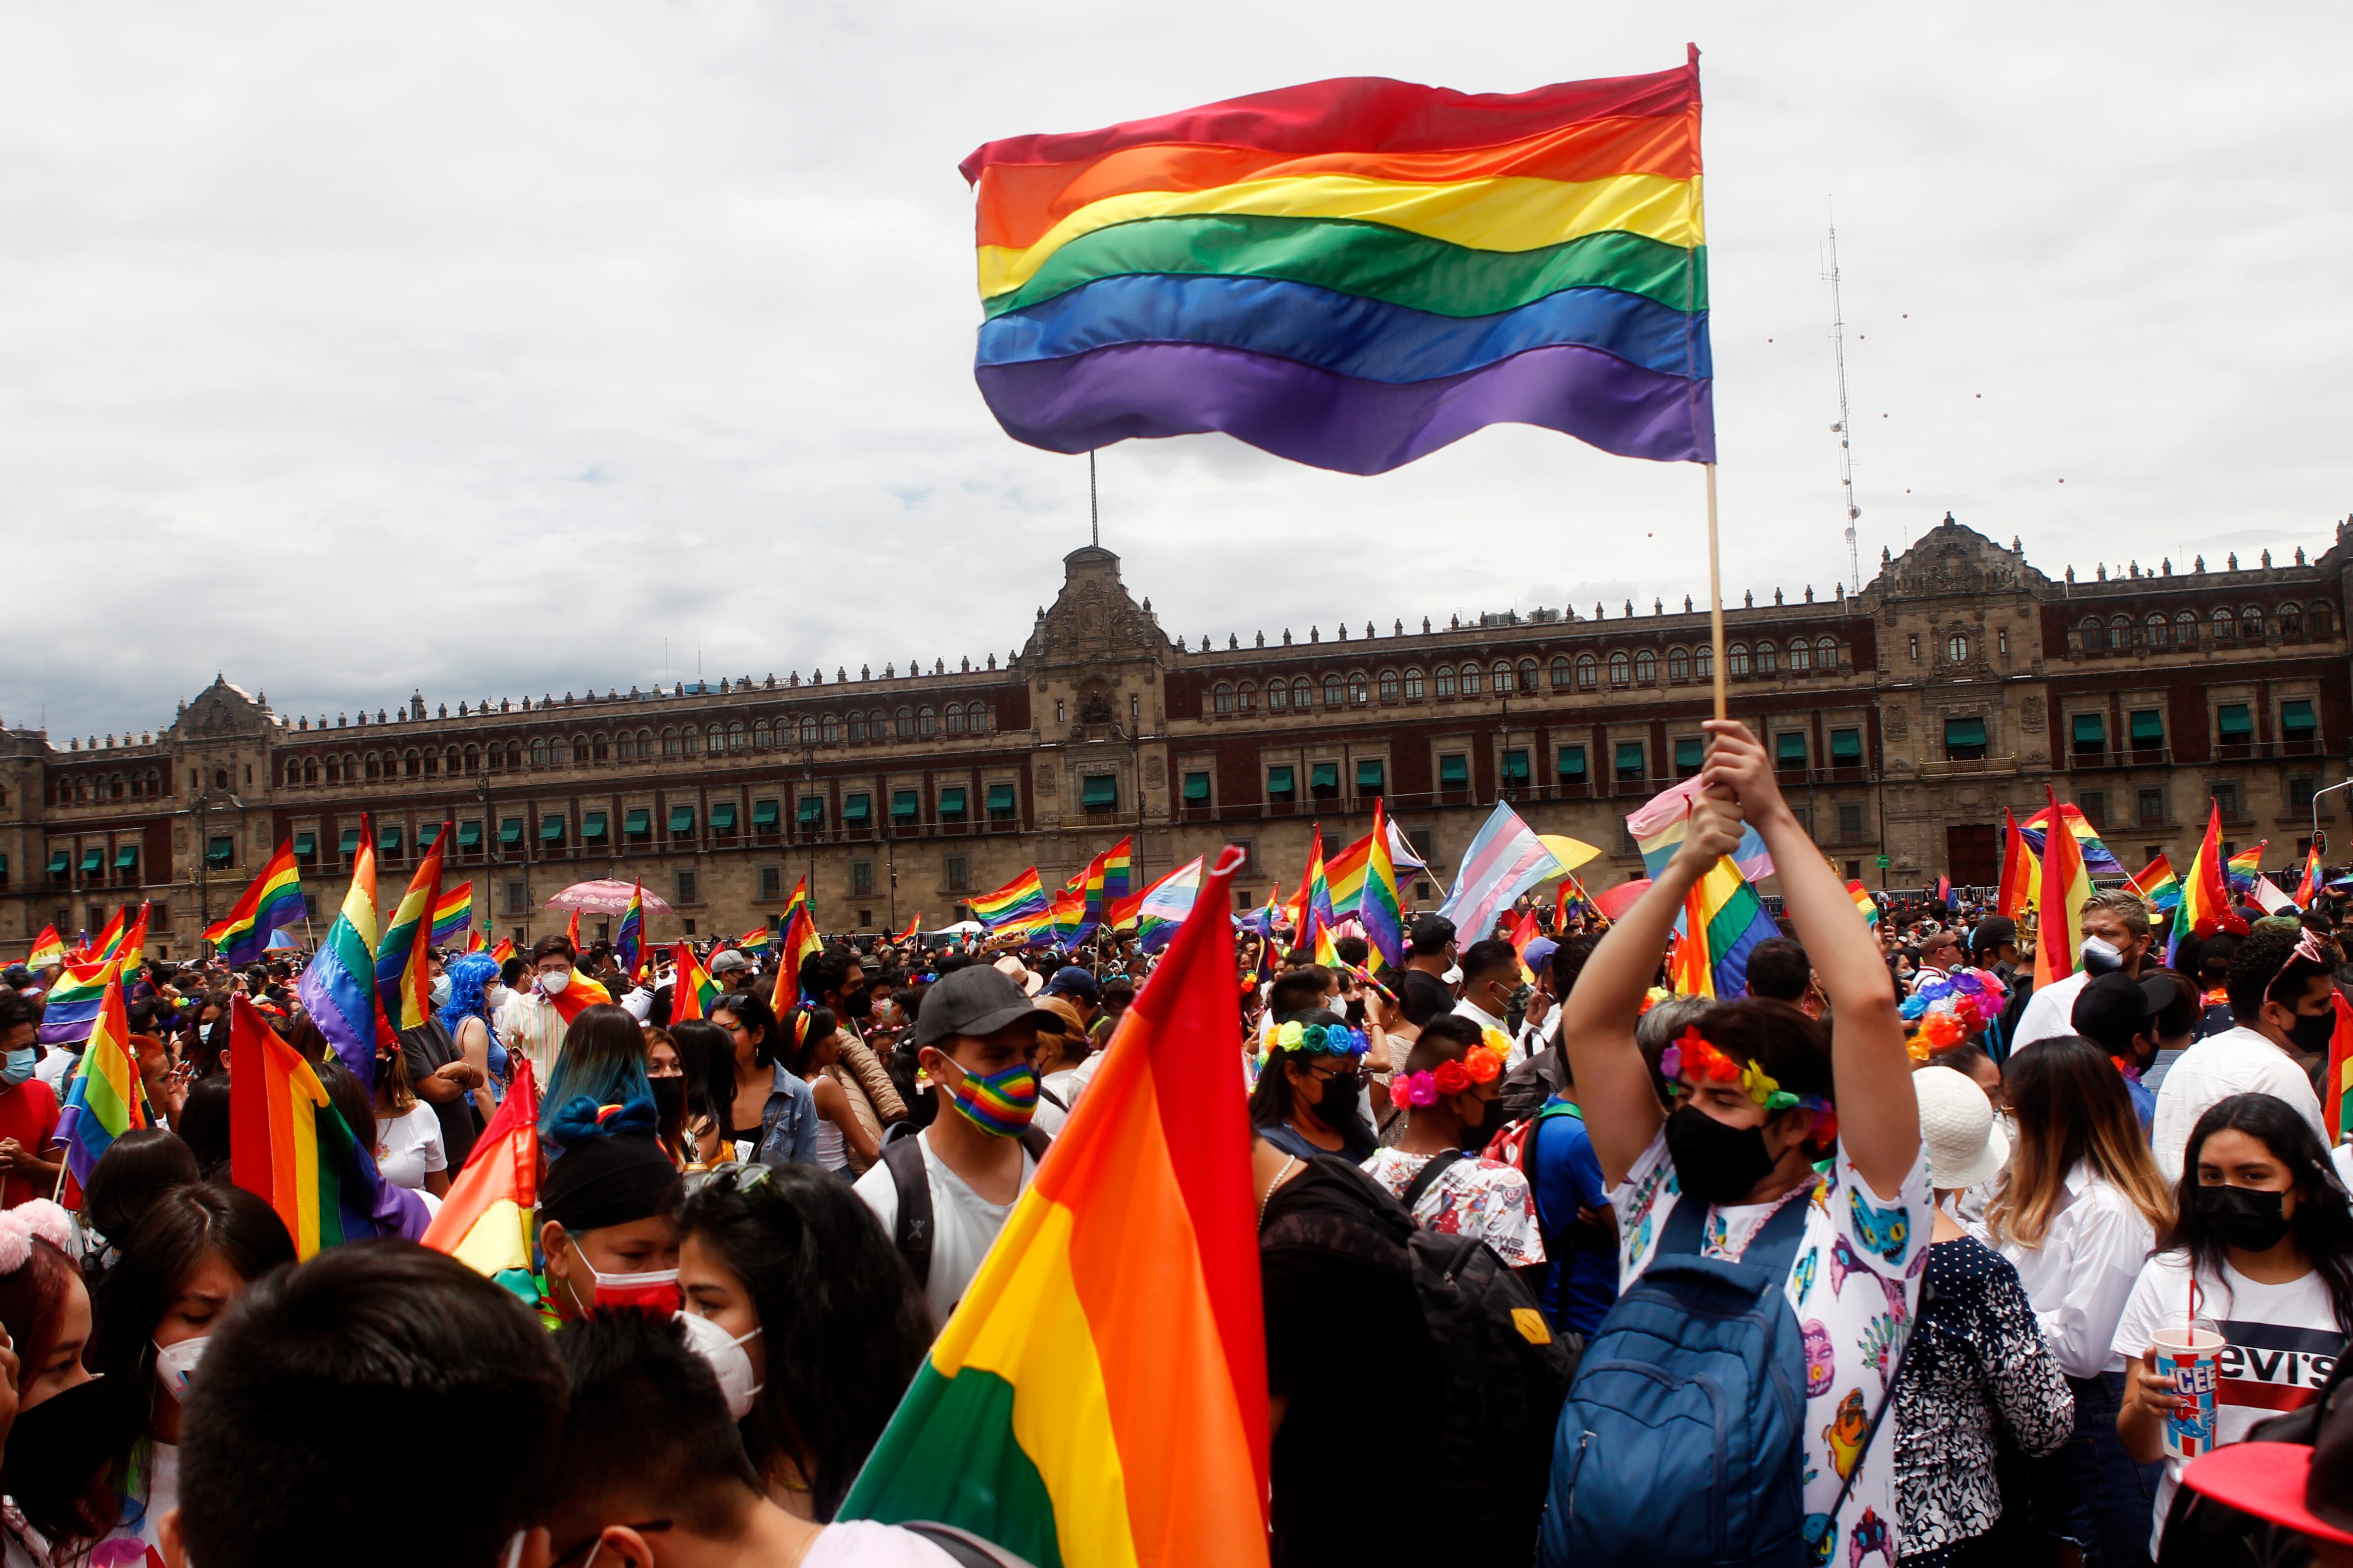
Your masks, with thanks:
M1814 1563L1805 1342L1784 1288L1805 1211L1784 1204L1732 1262L1699 1255L1708 1206L1675 1204L1560 1408L1541 1568Z

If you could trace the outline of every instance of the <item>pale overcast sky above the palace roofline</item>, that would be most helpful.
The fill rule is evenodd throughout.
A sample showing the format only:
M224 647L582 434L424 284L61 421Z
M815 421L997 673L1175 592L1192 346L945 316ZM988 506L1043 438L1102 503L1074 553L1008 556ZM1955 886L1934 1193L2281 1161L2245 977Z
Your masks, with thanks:
M1955 7L1922 7L1955 9ZM1704 49L1725 595L1946 510L2035 564L2320 550L2353 508L2341 5L0 9L0 719L1000 658L1085 458L972 383L958 160L1327 75ZM1697 468L1494 428L1393 475L1101 456L1169 632L1706 592Z

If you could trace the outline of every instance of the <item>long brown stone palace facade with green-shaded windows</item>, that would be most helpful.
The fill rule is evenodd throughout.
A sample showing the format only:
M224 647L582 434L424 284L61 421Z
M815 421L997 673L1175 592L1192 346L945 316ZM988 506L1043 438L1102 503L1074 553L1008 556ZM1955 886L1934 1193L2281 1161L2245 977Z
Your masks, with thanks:
M1988 884L2000 823L2073 799L2129 867L2188 865L2207 799L2233 846L2301 858L2348 771L2353 543L2049 578L1951 517L1859 595L1729 604L1732 710L1772 748L1824 853L1871 886ZM1035 863L1047 886L1122 835L1144 877L1221 842L1235 898L1292 889L1372 797L1445 882L1497 797L1638 875L1621 816L1699 766L1711 712L1697 599L1169 637L1101 548L1002 668L722 679L696 689L280 715L216 679L169 726L0 731L0 954L151 900L151 952L195 947L292 839L325 931L362 813L391 905L440 825L445 886L487 879L496 933L560 929L588 877L675 905L654 938L741 933L800 877L826 931L927 926ZM2344 795L2320 797L2327 827ZM1885 863L1880 863L1885 856ZM586 919L584 931L609 922Z

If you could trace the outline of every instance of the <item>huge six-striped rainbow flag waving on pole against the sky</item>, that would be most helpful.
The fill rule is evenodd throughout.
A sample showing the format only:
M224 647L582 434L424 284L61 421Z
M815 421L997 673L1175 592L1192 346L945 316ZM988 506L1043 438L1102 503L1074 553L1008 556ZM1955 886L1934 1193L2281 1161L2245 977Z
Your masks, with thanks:
M1014 440L1224 430L1372 475L1511 421L1715 461L1699 49L1511 96L1308 82L962 174Z

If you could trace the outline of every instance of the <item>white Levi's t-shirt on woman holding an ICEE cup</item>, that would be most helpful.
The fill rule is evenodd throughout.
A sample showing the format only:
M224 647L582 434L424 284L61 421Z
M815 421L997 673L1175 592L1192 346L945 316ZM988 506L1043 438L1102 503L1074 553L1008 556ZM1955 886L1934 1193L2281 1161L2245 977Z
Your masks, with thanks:
M2151 1347L2158 1328L2188 1319L2188 1255L2160 1253L2141 1265L2132 1300L2115 1324L2115 1354L2132 1361ZM2327 1281L2320 1272L2285 1286L2247 1279L2228 1262L2221 1279L2198 1274L2198 1316L2221 1328L2221 1385L2214 1392L2214 1446L2238 1443L2247 1432L2280 1410L2306 1403L2344 1354L2346 1335L2337 1324ZM2165 1535L2165 1509L2174 1505L2181 1460L2165 1460L2158 1481L2158 1514L2148 1535L2148 1556Z

